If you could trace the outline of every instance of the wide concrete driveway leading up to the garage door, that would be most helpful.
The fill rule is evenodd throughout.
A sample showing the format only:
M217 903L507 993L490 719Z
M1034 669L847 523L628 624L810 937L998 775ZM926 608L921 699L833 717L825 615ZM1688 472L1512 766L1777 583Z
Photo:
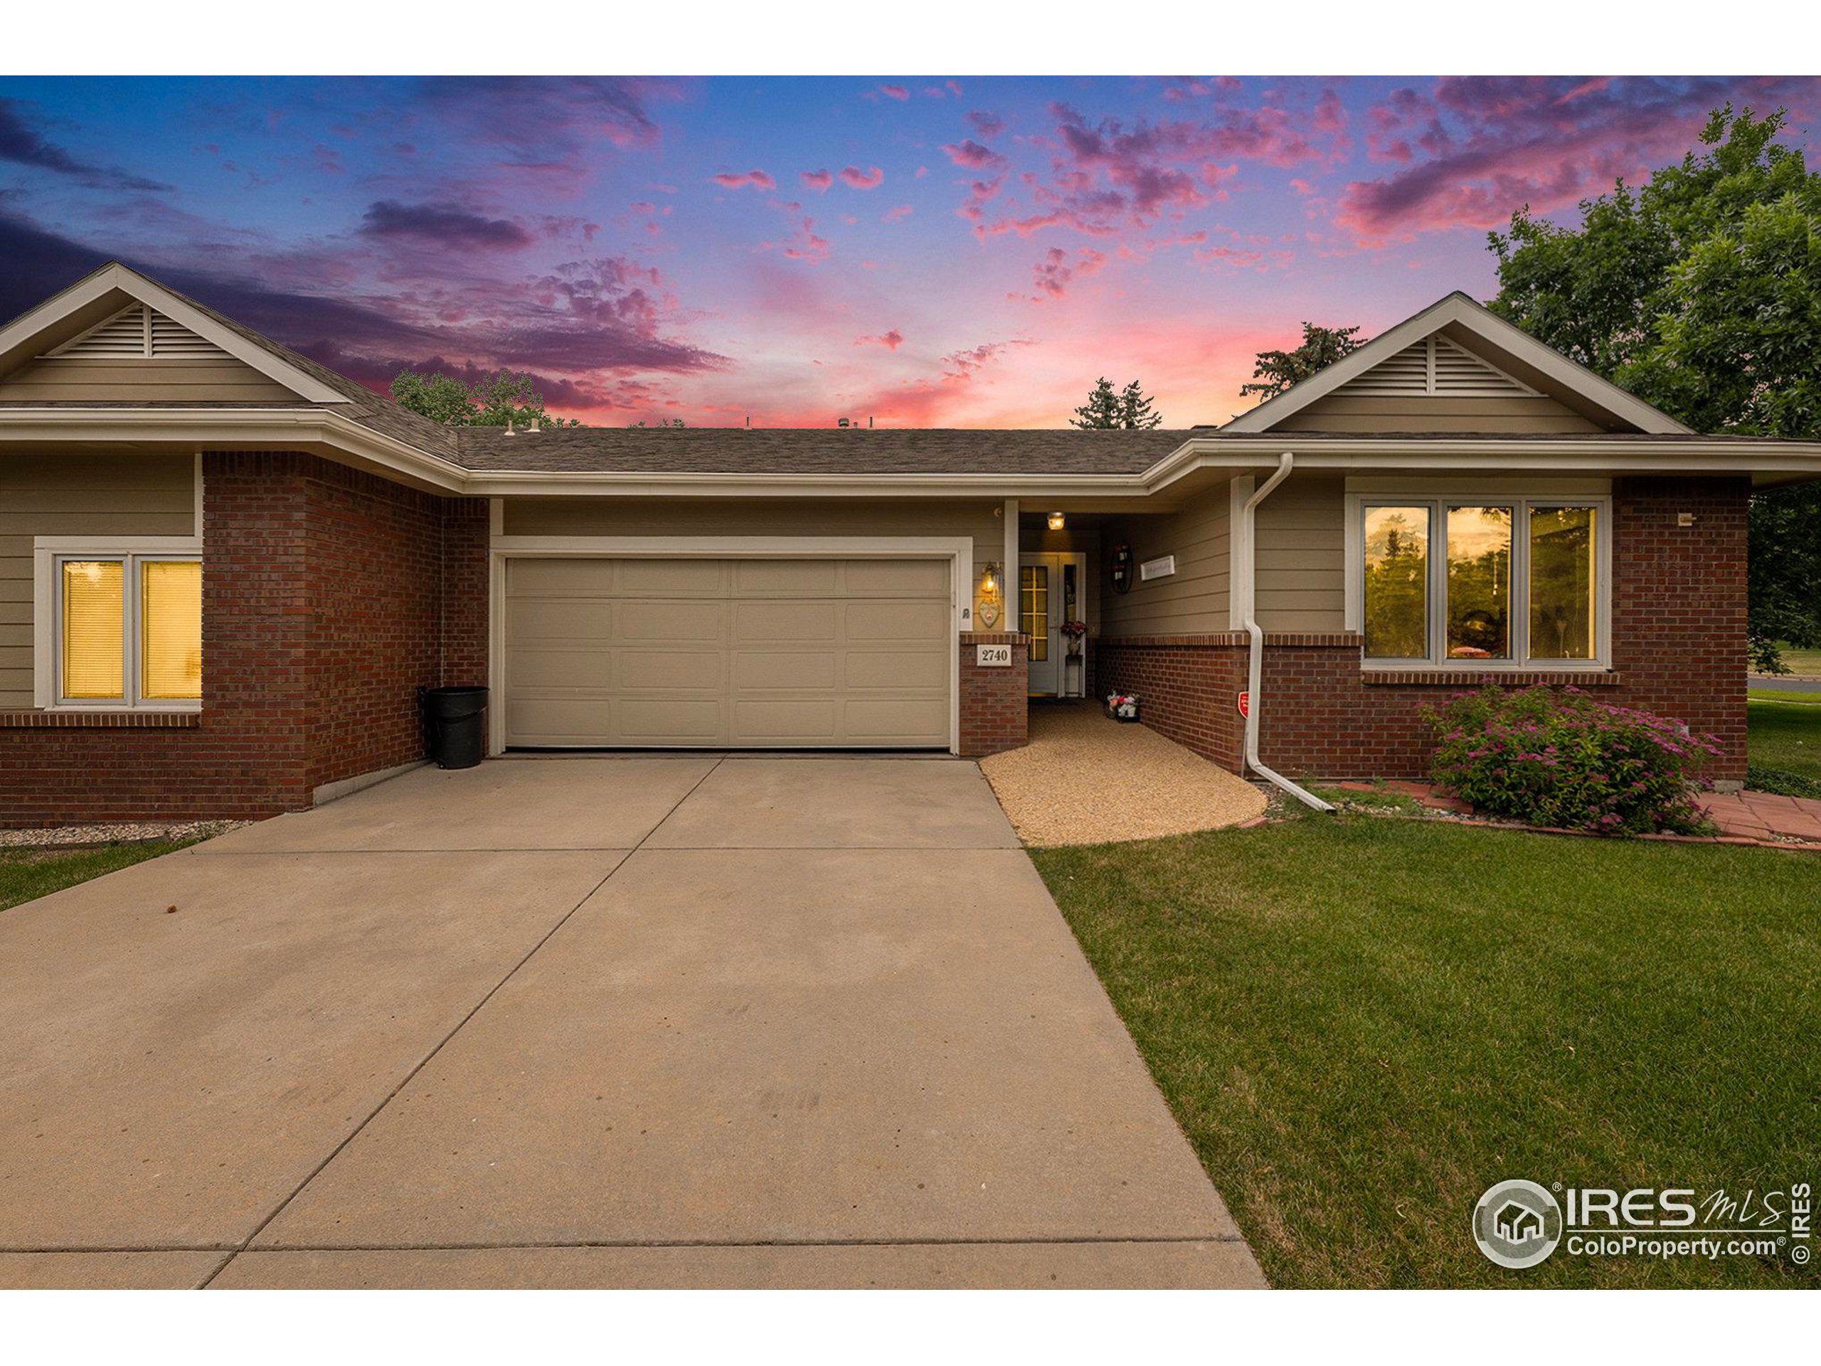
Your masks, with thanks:
M1262 1277L976 765L703 756L0 914L0 1286L197 1284Z

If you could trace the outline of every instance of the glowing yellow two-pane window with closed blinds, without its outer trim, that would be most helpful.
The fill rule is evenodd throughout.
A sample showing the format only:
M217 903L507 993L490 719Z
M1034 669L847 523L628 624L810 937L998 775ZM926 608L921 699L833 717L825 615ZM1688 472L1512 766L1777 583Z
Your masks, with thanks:
M202 561L175 554L56 561L56 696L67 707L202 701Z

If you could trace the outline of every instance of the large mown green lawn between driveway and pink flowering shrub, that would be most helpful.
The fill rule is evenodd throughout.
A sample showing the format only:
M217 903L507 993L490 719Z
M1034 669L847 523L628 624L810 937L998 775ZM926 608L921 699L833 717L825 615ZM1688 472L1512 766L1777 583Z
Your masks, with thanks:
M1307 816L1033 851L1278 1286L1785 1286L1473 1244L1495 1180L1821 1177L1821 863Z

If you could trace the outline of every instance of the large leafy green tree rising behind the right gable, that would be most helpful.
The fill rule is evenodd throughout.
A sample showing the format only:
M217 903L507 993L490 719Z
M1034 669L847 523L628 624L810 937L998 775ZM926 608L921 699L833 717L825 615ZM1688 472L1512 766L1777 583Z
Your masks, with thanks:
M1561 228L1491 233L1493 310L1697 432L1821 439L1821 173L1777 140L1785 113L1715 109L1701 149ZM1750 652L1821 645L1821 488L1759 494Z

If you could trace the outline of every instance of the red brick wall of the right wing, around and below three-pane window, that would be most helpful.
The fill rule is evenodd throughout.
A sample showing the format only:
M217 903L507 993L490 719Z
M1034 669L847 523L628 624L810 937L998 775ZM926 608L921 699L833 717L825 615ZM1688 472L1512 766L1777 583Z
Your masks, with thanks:
M1621 479L1613 488L1612 670L1393 674L1360 668L1357 636L1266 634L1258 750L1293 776L1422 778L1422 707L1482 681L1573 683L1721 741L1708 776L1745 776L1745 479ZM1681 526L1679 514L1694 525ZM1162 734L1240 769L1246 636L1098 641L1102 690L1136 692Z

